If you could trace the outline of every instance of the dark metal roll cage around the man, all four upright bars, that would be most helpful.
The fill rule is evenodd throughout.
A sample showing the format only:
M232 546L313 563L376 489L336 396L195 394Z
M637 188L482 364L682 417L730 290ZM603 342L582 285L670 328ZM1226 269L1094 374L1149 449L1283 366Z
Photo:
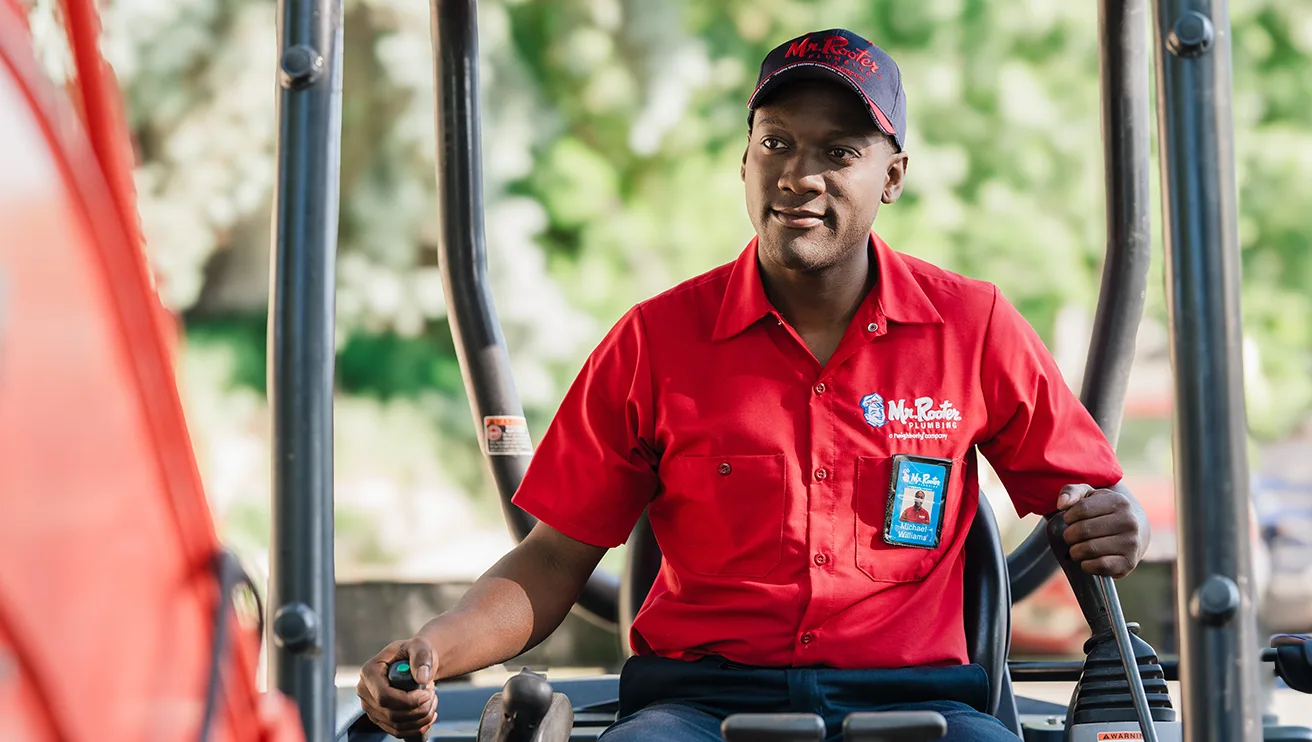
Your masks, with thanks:
M479 435L523 417L487 279L476 0L430 0L437 84L440 262ZM1117 442L1151 264L1148 7L1099 0L1106 261L1081 401ZM1186 739L1256 742L1248 461L1225 0L1152 0L1170 353L1176 381L1177 620ZM307 739L333 732L333 286L342 0L279 0L270 397L274 422L270 686ZM488 456L506 522L530 456ZM646 527L646 519L639 528ZM1057 569L1046 523L1008 556L1013 600ZM1086 616L1097 594L1069 574ZM615 627L621 583L597 572L576 610ZM1236 669L1239 669L1236 671Z

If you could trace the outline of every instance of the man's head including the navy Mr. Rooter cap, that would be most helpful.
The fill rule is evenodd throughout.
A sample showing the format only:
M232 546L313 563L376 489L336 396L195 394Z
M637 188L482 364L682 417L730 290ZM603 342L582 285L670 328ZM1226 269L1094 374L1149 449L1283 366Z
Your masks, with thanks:
M863 250L880 203L901 194L901 73L846 30L789 41L748 102L743 182L762 260L802 271Z

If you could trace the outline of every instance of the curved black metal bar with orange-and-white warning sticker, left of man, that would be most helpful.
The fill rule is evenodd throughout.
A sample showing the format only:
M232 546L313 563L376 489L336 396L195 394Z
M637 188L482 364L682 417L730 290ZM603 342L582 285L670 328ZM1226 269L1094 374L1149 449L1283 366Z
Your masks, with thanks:
M475 429L492 468L510 534L521 540L537 520L510 498L529 468L533 447L487 277L478 4L475 0L432 0L432 10L442 288ZM618 579L598 570L584 587L577 608L594 623L614 628L618 600Z

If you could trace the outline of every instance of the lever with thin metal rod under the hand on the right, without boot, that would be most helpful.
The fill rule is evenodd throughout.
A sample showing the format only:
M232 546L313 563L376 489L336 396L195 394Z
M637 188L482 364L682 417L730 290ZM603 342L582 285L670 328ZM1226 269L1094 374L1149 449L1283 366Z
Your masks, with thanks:
M1152 711L1148 708L1148 693L1144 692L1144 679L1139 674L1139 662L1135 659L1135 650L1130 642L1130 628L1126 625L1126 616L1120 608L1120 596L1117 594L1117 583L1106 576L1088 574L1071 557L1071 547L1065 541L1067 522L1061 513L1047 517L1048 547L1052 548L1061 572L1065 573L1071 590L1075 591L1080 602L1080 610L1089 621L1093 635L1111 632L1117 640L1117 650L1120 653L1120 665L1126 670L1126 679L1130 682L1130 697L1135 704L1135 716L1139 717L1139 729L1143 732L1144 742L1157 742L1157 729L1153 724Z

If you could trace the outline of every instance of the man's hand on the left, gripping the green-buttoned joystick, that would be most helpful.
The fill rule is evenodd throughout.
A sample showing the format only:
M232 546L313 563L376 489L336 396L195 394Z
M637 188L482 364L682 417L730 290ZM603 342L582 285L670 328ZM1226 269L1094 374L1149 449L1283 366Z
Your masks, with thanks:
M400 691L387 682L387 666L396 659L411 665L419 688ZM399 739L426 739L437 721L437 692L433 688L437 654L421 637L394 641L359 669L356 695L369 720Z

